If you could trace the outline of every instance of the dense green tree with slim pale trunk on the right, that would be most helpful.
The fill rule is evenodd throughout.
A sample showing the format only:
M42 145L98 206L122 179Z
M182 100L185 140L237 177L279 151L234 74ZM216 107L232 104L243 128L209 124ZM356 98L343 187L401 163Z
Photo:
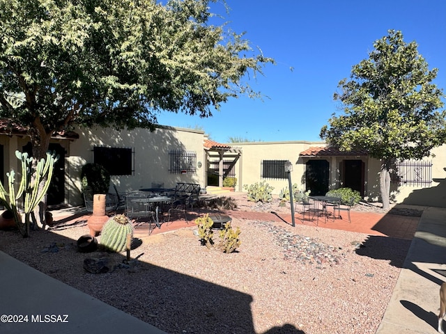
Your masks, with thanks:
M416 42L406 43L401 31L390 30L334 93L344 115L333 115L321 138L341 150L367 150L381 161L385 209L390 205L392 161L429 157L432 148L446 141L443 90L432 83L437 72L428 69Z

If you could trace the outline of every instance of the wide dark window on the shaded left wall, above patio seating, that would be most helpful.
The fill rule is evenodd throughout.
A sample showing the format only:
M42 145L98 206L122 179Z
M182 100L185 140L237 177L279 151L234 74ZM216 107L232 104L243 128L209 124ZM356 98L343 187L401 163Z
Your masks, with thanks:
M102 165L110 175L132 175L131 148L93 148L93 161Z

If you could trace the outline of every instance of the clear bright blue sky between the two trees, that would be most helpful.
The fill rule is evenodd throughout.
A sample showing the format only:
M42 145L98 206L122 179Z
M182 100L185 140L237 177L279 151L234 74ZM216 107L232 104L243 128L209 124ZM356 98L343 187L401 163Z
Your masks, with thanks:
M435 82L446 93L445 0L227 0L211 11L224 15L236 33L246 32L276 65L249 84L261 100L239 97L213 111L211 118L164 112L162 125L203 129L220 143L229 137L254 141L320 141L319 132L332 113L339 80L369 58L374 42L394 29L415 40L419 53L438 68ZM223 21L222 21L223 22ZM293 67L293 71L290 70ZM446 100L443 100L446 104Z

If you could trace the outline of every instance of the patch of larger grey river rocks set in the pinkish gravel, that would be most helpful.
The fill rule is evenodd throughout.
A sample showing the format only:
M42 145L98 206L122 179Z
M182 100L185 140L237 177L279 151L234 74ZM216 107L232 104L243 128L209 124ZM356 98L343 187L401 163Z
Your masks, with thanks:
M255 224L266 228L274 235L276 243L283 248L285 260L318 265L340 262L342 254L339 250L341 248L328 246L310 237L293 234L266 221L256 221Z

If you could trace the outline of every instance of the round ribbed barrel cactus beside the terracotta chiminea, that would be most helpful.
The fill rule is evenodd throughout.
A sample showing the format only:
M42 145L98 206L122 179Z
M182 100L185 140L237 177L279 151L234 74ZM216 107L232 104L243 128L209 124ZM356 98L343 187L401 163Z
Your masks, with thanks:
M114 252L125 250L127 236L133 236L133 227L130 220L123 214L110 218L102 228L100 244Z

